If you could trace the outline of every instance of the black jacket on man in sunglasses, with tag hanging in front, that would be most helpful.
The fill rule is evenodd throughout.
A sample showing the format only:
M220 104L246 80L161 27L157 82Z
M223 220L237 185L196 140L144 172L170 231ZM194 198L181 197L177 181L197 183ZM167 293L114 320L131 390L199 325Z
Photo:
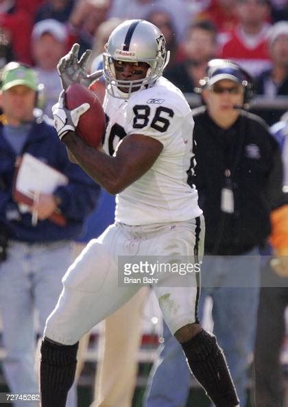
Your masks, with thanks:
M243 110L228 130L221 129L205 107L193 110L193 116L195 184L206 220L206 253L241 254L262 245L270 232L269 212L283 204L276 141L265 122ZM232 214L221 212L221 190L227 180L235 201Z

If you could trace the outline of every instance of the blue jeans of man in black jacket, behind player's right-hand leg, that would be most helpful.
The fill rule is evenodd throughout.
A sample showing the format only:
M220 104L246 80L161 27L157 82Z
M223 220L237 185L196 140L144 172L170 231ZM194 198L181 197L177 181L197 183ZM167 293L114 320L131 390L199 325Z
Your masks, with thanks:
M200 320L204 301L213 299L213 332L224 349L241 407L245 407L249 356L254 348L259 303L260 257L258 249L246 256L204 256ZM144 407L184 407L190 373L181 345L164 323L165 345L150 373Z

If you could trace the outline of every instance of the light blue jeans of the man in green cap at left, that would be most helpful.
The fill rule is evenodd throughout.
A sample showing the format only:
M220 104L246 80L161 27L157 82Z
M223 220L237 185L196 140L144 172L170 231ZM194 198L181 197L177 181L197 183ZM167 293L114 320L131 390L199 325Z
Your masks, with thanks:
M27 245L10 242L8 258L0 263L0 311L5 378L11 393L39 393L35 368L38 312L40 334L62 291L62 276L73 261L73 245L58 242ZM77 393L71 392L71 404ZM74 393L74 394L73 394ZM15 407L36 407L35 402L19 402Z

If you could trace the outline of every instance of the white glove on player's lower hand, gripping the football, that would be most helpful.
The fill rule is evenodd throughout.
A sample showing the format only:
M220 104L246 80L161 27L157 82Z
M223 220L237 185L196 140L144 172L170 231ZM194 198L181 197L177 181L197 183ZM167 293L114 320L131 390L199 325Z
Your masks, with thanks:
M68 132L75 132L80 116L90 108L89 103L82 103L73 110L68 110L64 106L64 90L60 93L56 105L52 106L53 125L56 128L60 140Z

